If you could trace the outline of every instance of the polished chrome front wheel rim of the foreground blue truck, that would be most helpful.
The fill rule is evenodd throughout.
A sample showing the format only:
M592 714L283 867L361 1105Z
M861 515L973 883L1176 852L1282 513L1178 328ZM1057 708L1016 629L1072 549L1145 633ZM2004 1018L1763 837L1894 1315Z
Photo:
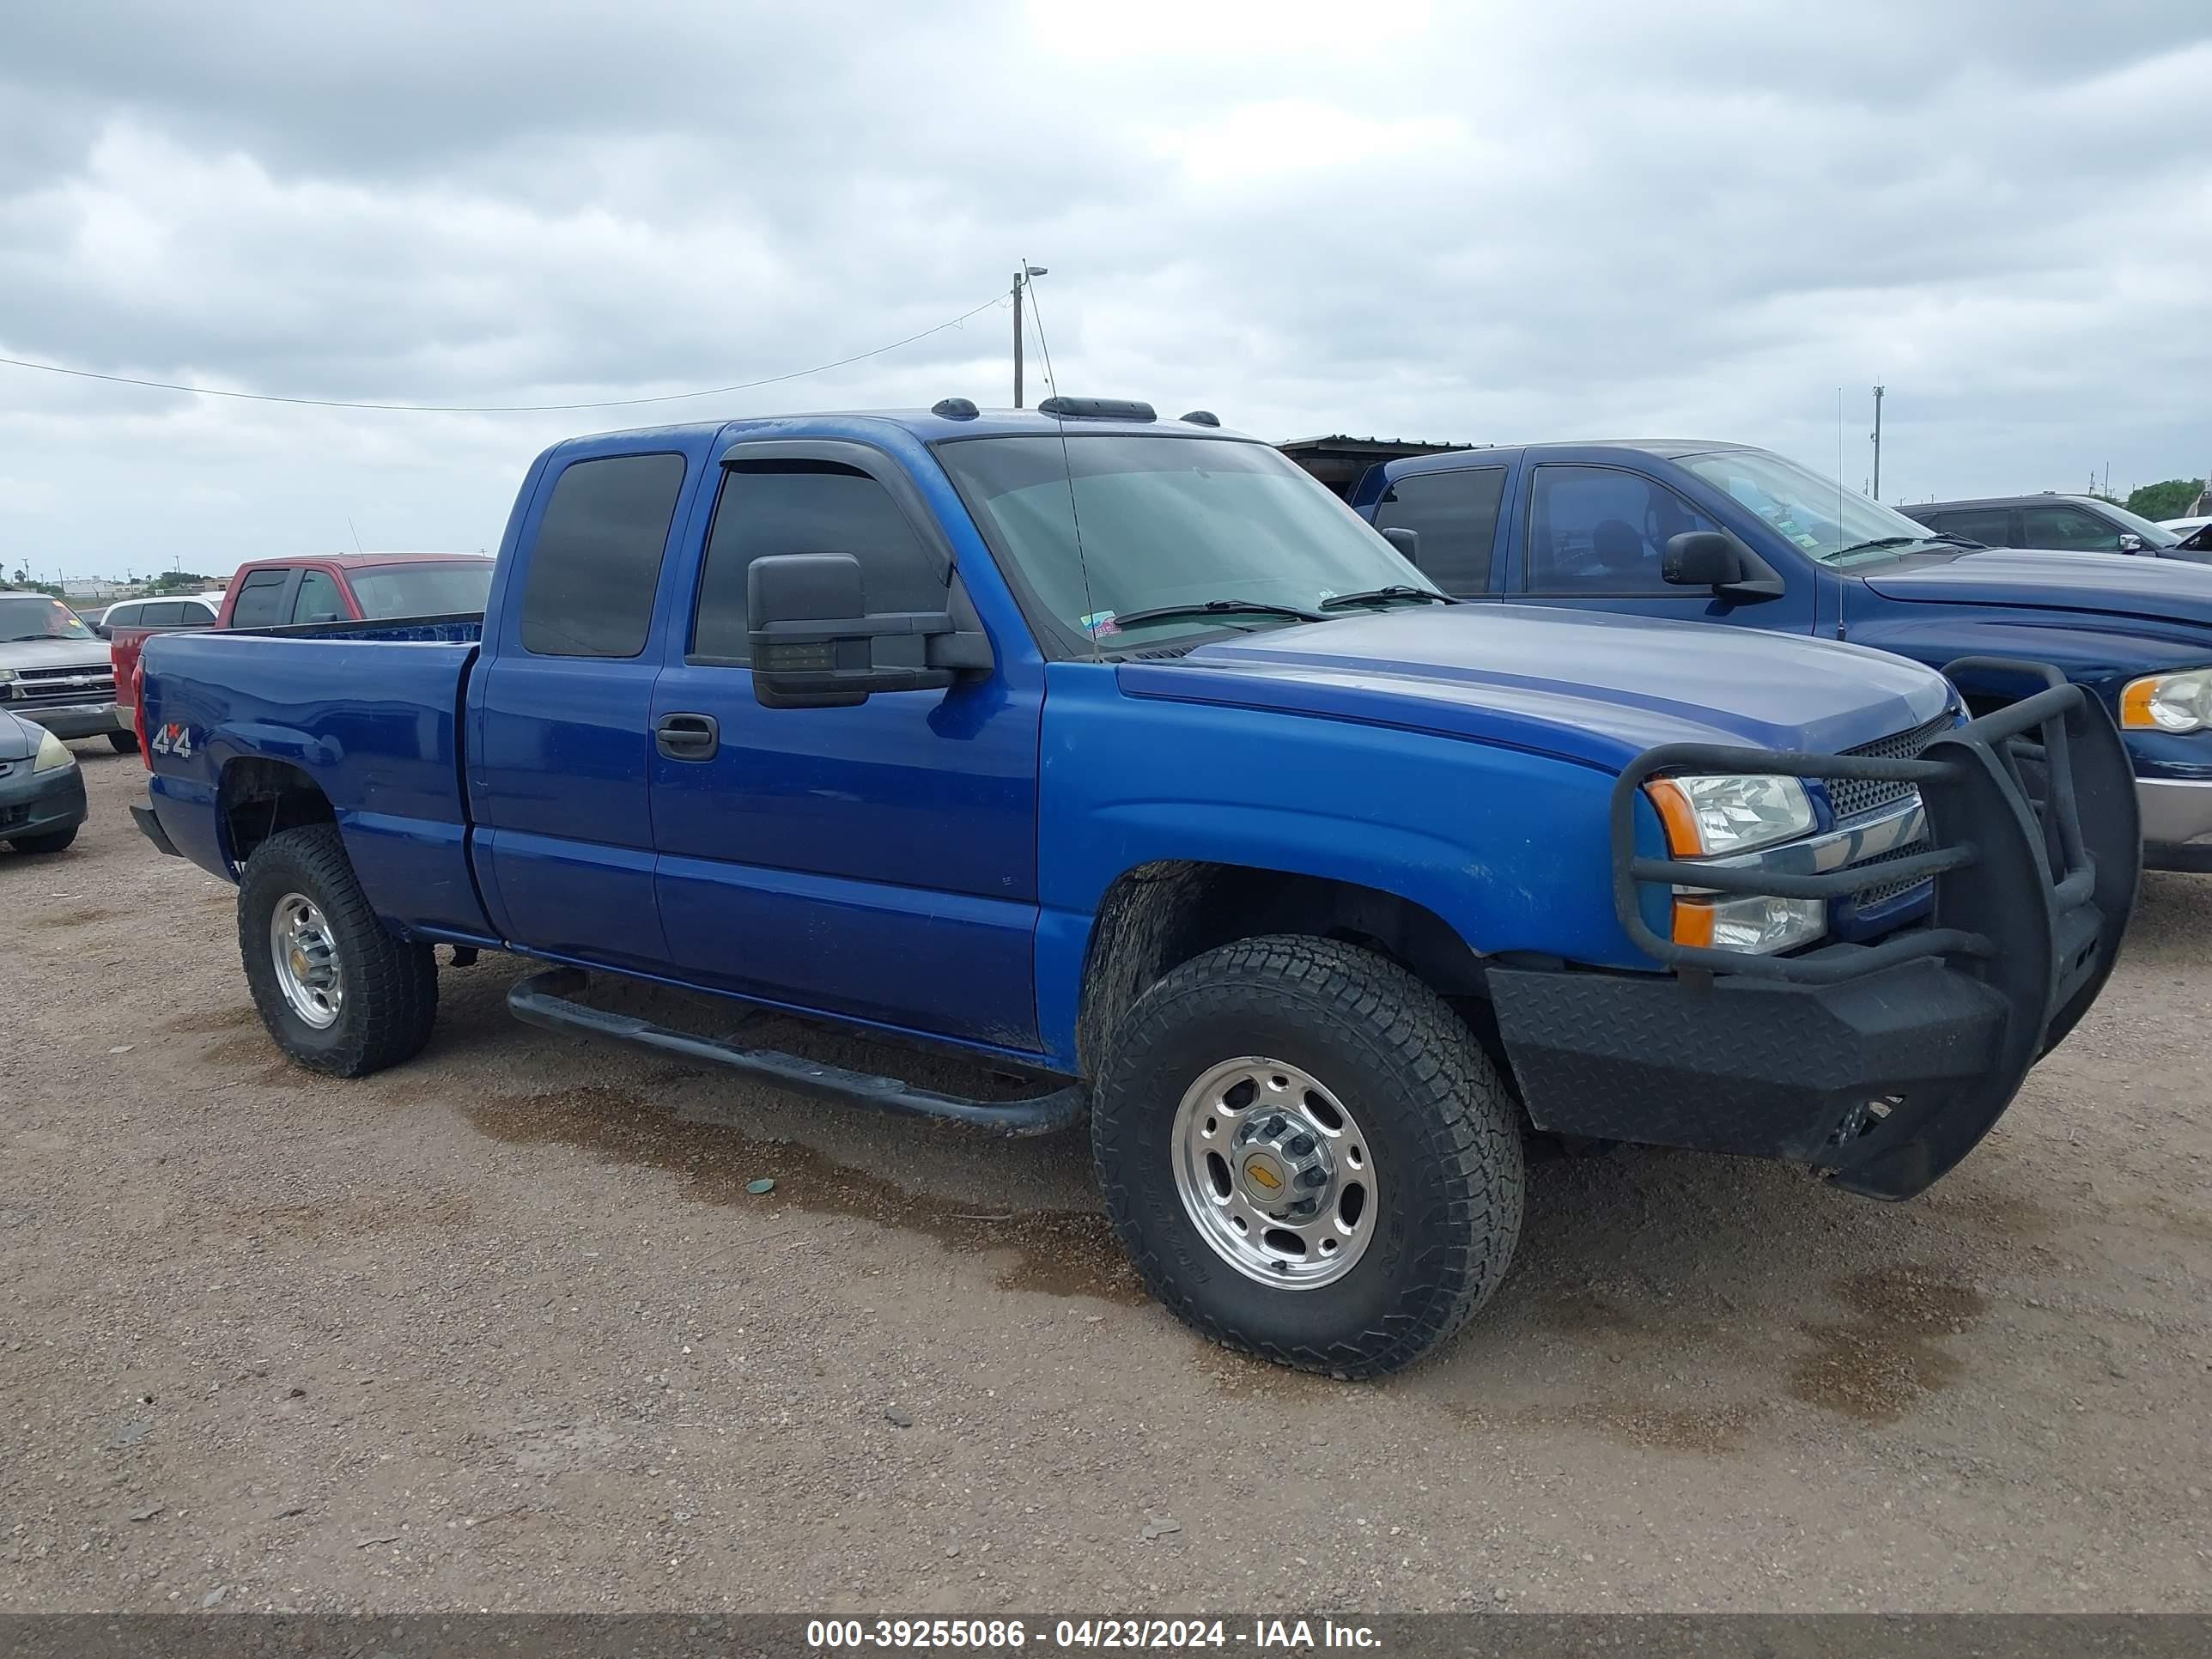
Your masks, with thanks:
M1374 1237L1378 1186L1360 1126L1281 1060L1228 1060L1186 1093L1170 1133L1175 1190L1199 1237L1248 1279L1318 1290Z

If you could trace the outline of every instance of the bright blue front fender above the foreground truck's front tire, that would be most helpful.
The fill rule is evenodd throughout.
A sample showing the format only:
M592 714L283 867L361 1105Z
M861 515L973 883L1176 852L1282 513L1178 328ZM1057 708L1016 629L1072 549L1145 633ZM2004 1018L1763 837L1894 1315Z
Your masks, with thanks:
M1099 902L1194 860L1405 898L1478 953L1650 967L1613 916L1613 774L1551 754L1272 710L1126 699L1053 664L1040 770L1037 1020L1071 1062Z

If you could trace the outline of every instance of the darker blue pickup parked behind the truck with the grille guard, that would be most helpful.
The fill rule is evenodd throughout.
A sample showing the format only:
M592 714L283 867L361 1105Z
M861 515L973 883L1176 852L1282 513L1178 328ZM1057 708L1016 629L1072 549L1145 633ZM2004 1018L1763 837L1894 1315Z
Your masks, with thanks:
M1458 449L1371 467L1352 504L1467 599L1854 639L1942 668L2031 657L2121 726L2143 860L2212 872L2212 568L1982 551L1783 456L1721 442ZM2020 692L1960 681L1969 708Z

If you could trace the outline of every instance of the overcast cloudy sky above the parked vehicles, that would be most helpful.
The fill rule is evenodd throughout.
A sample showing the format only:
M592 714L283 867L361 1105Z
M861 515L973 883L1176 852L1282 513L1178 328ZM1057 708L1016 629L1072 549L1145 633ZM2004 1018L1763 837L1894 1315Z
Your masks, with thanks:
M1022 257L1062 389L1270 438L1838 471L1843 389L1860 487L1882 380L1889 500L2201 476L2212 7L7 7L0 356L582 403L987 310L641 411L0 367L0 566L493 546L573 431L1006 403Z

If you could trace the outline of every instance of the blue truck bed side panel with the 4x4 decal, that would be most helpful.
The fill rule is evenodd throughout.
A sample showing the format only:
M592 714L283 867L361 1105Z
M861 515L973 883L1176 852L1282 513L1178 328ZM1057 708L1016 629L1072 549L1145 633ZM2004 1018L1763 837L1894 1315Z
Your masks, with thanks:
M378 916L407 933L487 936L460 785L480 635L480 617L418 617L150 637L142 739L164 832L234 878L223 765L292 768L330 801Z

